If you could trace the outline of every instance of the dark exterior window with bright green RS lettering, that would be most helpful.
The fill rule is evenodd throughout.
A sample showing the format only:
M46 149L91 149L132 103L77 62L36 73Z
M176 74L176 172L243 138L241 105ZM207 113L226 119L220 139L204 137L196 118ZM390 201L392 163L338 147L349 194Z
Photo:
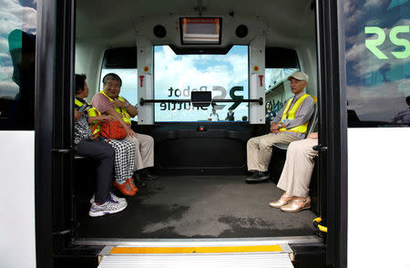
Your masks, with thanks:
M409 1L344 5L349 127L410 126Z

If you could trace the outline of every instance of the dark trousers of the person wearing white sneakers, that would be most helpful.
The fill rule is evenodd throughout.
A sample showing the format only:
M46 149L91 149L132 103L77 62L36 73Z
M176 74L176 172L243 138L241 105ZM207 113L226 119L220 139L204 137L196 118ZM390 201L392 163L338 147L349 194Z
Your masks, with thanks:
M108 199L114 178L115 150L102 139L85 139L77 144L76 153L96 161L96 202L104 203Z

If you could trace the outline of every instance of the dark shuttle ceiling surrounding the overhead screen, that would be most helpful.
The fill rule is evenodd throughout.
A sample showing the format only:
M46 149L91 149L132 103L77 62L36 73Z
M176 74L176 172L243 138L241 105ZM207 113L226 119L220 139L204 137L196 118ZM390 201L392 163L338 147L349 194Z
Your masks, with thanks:
M78 0L76 38L77 43L84 40L106 47L133 46L136 36L146 36L153 45L227 48L249 45L256 36L266 36L268 46L298 47L307 40L314 42L313 9L312 0L175 0L156 1L155 5L149 1L118 0L113 4ZM181 19L190 17L220 19L220 40L200 45L184 41Z

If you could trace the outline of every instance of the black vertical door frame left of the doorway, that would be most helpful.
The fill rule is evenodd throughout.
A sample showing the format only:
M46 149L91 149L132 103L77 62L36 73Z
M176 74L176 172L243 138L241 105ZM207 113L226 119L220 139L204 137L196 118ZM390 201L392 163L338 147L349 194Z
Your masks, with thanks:
M35 198L36 266L53 267L70 234L75 0L37 6ZM57 193L56 193L57 192ZM67 232L68 231L68 232Z

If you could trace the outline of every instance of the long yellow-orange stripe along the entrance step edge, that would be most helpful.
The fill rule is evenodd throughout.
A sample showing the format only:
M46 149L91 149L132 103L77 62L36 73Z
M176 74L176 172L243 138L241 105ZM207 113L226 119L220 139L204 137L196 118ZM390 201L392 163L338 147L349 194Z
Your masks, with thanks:
M169 253L259 253L282 252L280 245L231 247L115 247L111 254L169 254Z

